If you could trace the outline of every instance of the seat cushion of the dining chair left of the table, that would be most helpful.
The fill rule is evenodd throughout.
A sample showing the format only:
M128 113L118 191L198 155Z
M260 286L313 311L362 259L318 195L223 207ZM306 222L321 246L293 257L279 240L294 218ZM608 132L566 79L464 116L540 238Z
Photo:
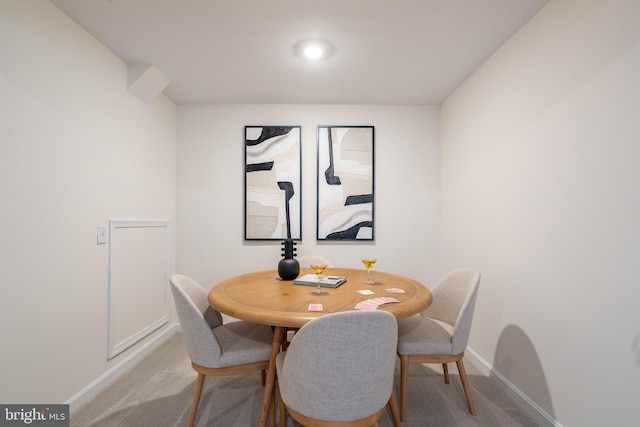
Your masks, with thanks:
M213 333L220 344L220 366L216 368L268 361L271 356L269 326L239 320L218 326Z

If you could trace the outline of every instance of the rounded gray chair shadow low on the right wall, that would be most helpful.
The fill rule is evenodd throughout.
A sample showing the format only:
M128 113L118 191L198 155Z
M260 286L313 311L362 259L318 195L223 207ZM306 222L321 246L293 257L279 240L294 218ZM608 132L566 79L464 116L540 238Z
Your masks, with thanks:
M522 329L509 325L502 331L493 367L555 419L549 385L538 352Z

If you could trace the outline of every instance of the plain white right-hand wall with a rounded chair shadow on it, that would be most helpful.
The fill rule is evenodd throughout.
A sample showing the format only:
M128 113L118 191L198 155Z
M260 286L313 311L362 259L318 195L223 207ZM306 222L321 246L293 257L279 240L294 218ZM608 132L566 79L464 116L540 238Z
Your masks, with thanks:
M470 346L565 426L637 426L640 3L554 0L442 109Z

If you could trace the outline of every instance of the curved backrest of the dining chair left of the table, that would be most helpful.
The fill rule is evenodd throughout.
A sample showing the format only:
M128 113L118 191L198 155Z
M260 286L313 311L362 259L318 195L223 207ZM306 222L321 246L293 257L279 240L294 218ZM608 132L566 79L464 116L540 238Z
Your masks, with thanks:
M220 345L212 329L222 325L222 315L209 305L207 292L191 278L176 274L170 282L189 358L200 366L219 367Z

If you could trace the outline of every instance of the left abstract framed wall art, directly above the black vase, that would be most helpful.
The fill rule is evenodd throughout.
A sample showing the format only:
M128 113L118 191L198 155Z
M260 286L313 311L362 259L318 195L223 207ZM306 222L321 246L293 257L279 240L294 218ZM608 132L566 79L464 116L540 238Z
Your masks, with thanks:
M245 126L245 240L302 239L300 135L300 126Z

